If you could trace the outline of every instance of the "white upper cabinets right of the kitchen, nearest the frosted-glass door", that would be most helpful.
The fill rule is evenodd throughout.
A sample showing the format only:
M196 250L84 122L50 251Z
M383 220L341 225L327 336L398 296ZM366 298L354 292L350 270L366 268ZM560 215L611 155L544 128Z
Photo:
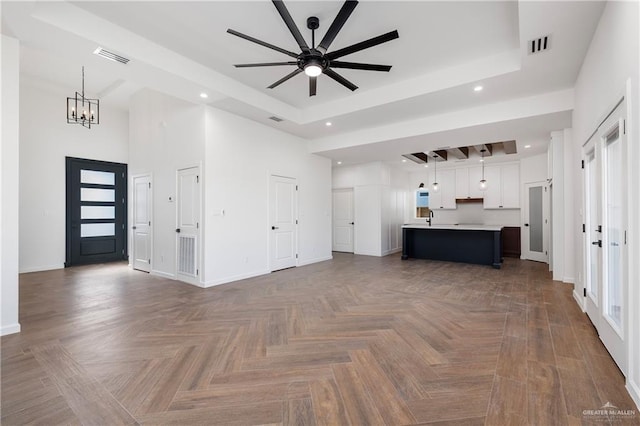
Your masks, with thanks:
M518 164L486 166L484 176L487 189L484 191L485 209L520 208L520 167Z

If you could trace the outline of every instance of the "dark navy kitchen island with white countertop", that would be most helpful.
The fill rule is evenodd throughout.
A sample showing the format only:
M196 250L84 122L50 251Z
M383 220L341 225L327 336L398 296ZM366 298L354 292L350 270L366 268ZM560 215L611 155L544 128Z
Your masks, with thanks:
M447 262L502 265L498 225L409 224L402 227L402 260L408 258Z

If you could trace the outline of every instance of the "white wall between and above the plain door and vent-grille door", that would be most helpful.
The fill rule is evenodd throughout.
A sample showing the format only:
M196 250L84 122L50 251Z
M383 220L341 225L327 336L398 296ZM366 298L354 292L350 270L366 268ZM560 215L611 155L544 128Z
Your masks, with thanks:
M200 166L204 159L204 111L202 105L148 89L130 100L129 190L133 187L132 176L151 174L151 269L158 275L176 276L176 173L181 168ZM199 263L201 271L206 269L202 259ZM203 276L204 271L200 281Z

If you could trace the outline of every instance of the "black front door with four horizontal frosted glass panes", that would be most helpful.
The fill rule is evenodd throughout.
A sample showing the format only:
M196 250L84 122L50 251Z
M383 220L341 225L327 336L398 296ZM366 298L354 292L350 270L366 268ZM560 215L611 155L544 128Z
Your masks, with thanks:
M67 157L65 266L127 259L127 165Z

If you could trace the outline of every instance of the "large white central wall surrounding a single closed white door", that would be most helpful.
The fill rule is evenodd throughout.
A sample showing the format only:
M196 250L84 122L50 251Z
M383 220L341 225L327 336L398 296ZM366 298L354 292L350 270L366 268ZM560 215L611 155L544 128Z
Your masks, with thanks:
M207 108L205 169L205 285L270 272L271 175L298 181L298 265L331 259L331 162L304 139Z

